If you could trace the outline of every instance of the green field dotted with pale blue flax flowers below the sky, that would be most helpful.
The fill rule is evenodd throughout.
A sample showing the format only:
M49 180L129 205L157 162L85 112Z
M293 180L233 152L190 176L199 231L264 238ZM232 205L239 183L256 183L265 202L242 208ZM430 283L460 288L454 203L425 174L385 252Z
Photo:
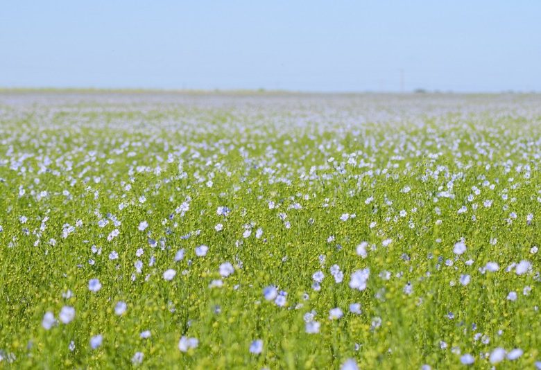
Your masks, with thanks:
M541 96L0 92L0 367L540 369Z

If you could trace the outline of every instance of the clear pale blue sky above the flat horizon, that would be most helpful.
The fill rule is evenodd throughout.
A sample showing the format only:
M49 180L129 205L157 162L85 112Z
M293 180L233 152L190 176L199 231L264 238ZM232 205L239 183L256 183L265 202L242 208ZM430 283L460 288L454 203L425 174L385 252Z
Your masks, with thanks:
M541 91L541 1L2 1L0 87Z

